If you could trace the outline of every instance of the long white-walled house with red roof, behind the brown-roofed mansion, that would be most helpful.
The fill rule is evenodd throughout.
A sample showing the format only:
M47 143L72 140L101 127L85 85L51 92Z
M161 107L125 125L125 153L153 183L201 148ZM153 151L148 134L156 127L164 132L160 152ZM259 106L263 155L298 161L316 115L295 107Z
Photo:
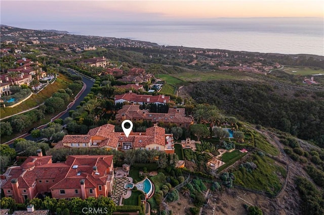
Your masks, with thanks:
M115 103L133 102L134 104L156 103L166 104L170 102L170 96L166 95L139 95L131 90L128 93L115 95Z

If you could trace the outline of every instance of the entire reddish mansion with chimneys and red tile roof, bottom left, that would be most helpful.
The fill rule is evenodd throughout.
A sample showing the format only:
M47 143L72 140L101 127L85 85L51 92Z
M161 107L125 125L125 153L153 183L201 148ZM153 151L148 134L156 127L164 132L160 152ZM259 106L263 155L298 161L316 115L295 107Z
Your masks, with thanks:
M40 149L37 154L1 176L6 197L24 203L49 192L53 198L82 199L111 194L113 155L69 155L64 163L52 163L52 156L43 156Z

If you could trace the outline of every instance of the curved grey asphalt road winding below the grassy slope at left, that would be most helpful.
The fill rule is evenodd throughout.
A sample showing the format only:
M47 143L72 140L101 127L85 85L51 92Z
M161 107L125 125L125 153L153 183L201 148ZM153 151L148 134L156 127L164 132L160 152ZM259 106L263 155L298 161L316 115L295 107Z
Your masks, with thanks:
M75 75L79 75L79 73L77 73L76 71L72 70L72 69L68 69L68 71L71 73L71 74L75 74ZM69 117L69 111L70 110L75 110L76 109L76 106L80 104L80 101L83 101L84 97L87 96L87 94L90 92L90 89L91 87L94 85L94 80L93 79L90 79L88 77L85 77L82 75L82 81L85 83L86 85L86 89L79 95L78 98L76 98L73 102L73 105L71 105L71 103L67 106L67 109L64 111L64 112L61 112L60 114L58 114L57 116L55 116L53 118L53 120L55 119L65 119L67 117ZM42 128L45 128L47 126L46 125L42 125L42 126L39 126L38 129L42 129ZM25 138L26 140L34 140L36 141L36 139L32 138L31 135L29 133L25 133L17 138ZM15 139L17 139L15 138ZM8 145L11 145L15 139L12 139L4 144L8 144ZM11 146L12 147L12 146Z

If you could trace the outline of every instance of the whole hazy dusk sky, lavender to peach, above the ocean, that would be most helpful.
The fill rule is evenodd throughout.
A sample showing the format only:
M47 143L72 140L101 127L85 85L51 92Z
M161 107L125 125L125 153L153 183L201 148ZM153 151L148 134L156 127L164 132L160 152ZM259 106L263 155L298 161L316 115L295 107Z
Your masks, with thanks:
M20 21L163 21L221 17L324 17L323 0L1 1L1 24Z

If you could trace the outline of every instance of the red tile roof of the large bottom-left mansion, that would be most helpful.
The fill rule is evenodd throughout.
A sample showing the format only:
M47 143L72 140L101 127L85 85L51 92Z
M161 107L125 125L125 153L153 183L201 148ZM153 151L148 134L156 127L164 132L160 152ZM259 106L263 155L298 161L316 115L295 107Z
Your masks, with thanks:
M86 188L95 188L106 184L110 174L106 170L113 169L113 155L70 155L65 163L56 164L51 163L51 157L28 157L21 167L9 168L5 175L10 179L18 179L18 188L29 188L38 179L53 179L55 184L49 189L79 188L80 179L86 179ZM22 168L33 166L30 170ZM99 175L93 171L94 166ZM7 180L2 188L12 188L11 180Z

